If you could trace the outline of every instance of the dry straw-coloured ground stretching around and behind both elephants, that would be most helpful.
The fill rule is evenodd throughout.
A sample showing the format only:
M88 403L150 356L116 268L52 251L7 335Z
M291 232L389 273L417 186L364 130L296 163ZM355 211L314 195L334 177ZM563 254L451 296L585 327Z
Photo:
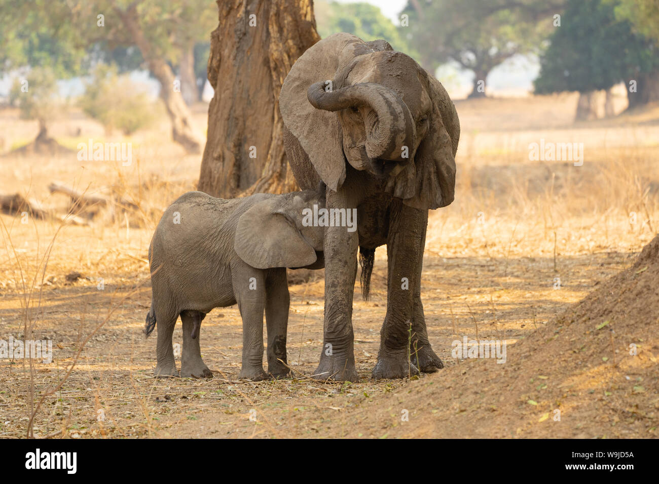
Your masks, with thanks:
M322 271L289 271L295 379L235 380L235 307L215 309L202 325L214 379L154 379L156 340L141 333L148 244L162 209L194 189L200 157L163 141L164 122L130 140L130 167L5 153L0 194L18 190L65 210L67 200L46 189L59 180L88 192L113 187L140 211L92 227L0 214L0 340L24 338L26 324L32 338L53 340L53 362L33 360L32 373L24 360L0 360L0 437L24 437L36 406L35 437L654 437L653 307L637 304L625 322L638 297L609 304L615 313L604 302L570 306L603 283L614 294L656 274L633 264L659 224L659 109L574 125L575 103L574 95L457 103L456 198L430 215L422 277L430 342L446 366L412 381L370 380L386 310L385 248L376 254L371 300L355 290L360 383L305 376L322 344ZM196 122L201 132L203 106ZM0 111L0 132L9 151L36 136L36 125ZM52 134L72 147L110 138L76 113ZM529 161L528 144L540 138L583 142L584 165ZM82 279L67 281L72 271ZM608 313L615 335L596 329ZM507 363L455 360L451 342L465 335L506 340ZM174 340L182 340L181 325ZM631 342L636 360L623 358Z

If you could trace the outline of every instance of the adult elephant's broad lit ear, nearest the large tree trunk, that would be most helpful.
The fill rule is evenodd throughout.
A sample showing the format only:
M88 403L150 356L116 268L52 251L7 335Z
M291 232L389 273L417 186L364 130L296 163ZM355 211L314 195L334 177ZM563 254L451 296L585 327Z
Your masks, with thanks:
M333 34L309 47L295 61L281 86L279 111L325 184L336 191L345 180L341 126L336 113L314 108L307 99L309 86L333 81L338 68L352 60L366 43L351 34ZM286 147L287 151L291 148Z

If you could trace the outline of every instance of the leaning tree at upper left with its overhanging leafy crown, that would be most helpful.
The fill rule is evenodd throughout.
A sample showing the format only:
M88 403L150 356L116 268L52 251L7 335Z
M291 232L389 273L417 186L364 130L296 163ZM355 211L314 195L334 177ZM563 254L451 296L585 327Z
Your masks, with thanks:
M57 74L70 76L107 57L130 65L136 61L136 51L130 48L136 47L161 86L174 141L190 153L201 150L182 93L190 93L191 99L198 94L190 59L194 43L212 28L216 10L211 2L0 0L0 7L0 61L5 70L47 64ZM181 80L175 78L174 65L179 65Z

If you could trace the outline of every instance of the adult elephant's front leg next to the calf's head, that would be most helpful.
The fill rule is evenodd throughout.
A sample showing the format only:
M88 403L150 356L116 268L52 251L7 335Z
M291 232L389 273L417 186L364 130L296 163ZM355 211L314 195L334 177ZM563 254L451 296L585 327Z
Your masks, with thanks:
M328 190L328 210L345 209L347 212L352 209L352 205L345 190ZM320 364L314 372L316 379L353 382L359 379L355 369L353 333L353 292L357 276L358 245L356 230L349 232L348 227L325 229L324 338Z

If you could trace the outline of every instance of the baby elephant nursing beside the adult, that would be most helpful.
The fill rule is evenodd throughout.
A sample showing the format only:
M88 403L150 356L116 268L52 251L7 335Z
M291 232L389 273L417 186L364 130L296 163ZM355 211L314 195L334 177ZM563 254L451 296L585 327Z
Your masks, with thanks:
M324 207L324 190L256 194L223 200L188 192L163 214L149 247L151 309L144 332L158 321L157 377L178 375L172 334L183 321L181 377L213 375L202 361L199 330L213 308L238 303L243 318L241 379L288 375L286 267L321 269L323 228L302 225L302 210ZM263 311L268 373L263 369Z

